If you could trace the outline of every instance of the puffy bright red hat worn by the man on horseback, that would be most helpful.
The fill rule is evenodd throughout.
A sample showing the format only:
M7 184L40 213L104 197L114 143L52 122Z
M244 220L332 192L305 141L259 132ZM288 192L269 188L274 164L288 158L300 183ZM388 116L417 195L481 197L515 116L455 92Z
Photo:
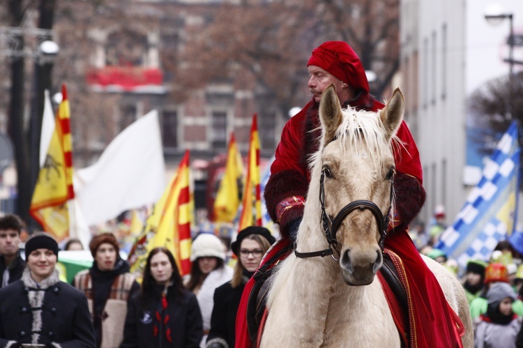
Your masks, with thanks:
M307 66L319 66L358 91L369 93L369 82L360 58L349 44L327 41L312 51Z

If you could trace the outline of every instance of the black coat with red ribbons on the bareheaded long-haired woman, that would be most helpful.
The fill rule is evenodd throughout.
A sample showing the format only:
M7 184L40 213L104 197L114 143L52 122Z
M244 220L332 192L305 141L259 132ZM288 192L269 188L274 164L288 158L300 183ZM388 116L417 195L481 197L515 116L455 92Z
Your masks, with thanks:
M195 294L184 291L177 301L172 296L174 289L167 292L167 327L171 329L172 342L167 342L167 327L158 323L156 311L161 306L161 292L153 294L154 301L141 308L142 292L132 295L128 301L126 326L123 330L121 348L197 348L202 341L204 325ZM161 321L165 319L162 317ZM158 333L154 335L154 326Z

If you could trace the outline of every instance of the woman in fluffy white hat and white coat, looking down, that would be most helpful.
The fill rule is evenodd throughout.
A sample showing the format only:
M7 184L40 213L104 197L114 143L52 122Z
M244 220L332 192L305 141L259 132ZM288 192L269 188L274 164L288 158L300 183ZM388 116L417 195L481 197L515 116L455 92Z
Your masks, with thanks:
M200 347L205 347L211 328L211 313L214 305L214 290L232 278L232 268L224 264L225 247L214 234L200 233L192 241L190 275L185 287L196 295L204 321L204 338Z

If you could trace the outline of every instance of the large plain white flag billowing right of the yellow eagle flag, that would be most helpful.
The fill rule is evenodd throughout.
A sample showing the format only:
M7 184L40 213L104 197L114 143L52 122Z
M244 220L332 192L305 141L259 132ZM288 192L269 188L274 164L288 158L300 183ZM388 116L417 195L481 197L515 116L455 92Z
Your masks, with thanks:
M158 112L149 112L123 130L98 162L79 169L75 179L77 208L89 226L158 201L165 190Z

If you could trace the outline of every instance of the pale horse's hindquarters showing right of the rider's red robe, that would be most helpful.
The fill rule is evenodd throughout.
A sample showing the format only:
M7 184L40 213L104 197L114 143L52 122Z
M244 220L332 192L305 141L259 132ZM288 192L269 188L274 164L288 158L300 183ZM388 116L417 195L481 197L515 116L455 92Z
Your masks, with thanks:
M457 316L460 317L462 324L465 328L465 334L462 337L462 344L464 348L473 347L474 343L474 331L472 326L472 318L469 310L469 302L467 301L467 295L464 292L462 285L459 280L452 275L444 266L435 262L429 257L423 256L423 259L427 266L430 268L430 271L434 273L436 279L441 286L445 294L447 302L450 304L450 307L457 313Z

